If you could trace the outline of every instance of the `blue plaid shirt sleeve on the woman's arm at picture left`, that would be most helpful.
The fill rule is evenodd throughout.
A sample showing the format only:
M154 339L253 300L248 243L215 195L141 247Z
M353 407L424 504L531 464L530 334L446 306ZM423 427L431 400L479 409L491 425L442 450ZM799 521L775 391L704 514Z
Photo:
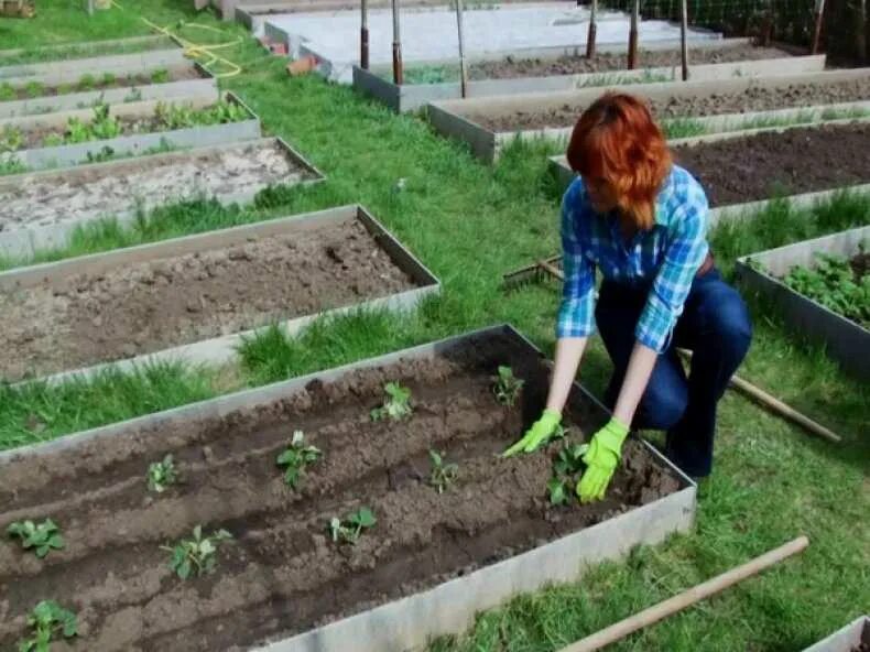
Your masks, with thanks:
M565 282L556 320L556 337L588 337L595 333L595 267L584 256L575 211L581 209L583 182L575 181L562 200L562 256Z

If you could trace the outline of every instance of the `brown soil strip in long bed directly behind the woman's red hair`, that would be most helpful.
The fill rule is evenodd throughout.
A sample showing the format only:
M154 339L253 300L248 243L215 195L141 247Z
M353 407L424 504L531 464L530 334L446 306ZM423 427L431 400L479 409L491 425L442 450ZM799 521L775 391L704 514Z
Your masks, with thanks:
M704 97L671 97L650 100L656 119L692 118L725 113L747 113L774 109L802 108L858 101L870 98L870 76L867 78L827 84L793 84L783 88L750 88L743 93L713 94ZM468 120L496 132L573 127L586 106L565 104L545 111L516 111L503 116L469 113Z

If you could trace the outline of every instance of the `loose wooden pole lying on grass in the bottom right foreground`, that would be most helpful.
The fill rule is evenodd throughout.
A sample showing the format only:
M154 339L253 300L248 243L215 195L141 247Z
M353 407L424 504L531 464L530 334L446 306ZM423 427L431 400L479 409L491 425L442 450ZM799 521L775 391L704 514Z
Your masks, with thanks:
M564 648L561 652L592 652L600 650L605 645L609 645L620 639L624 639L632 632L638 631L644 627L659 622L668 616L673 616L677 611L682 611L686 607L690 607L700 600L709 598L726 588L733 586L738 582L742 582L748 577L758 575L762 570L766 570L771 566L779 564L783 559L803 552L809 545L809 540L806 536L798 536L794 541L786 543L769 553L755 557L751 562L731 568L727 573L717 575L713 579L708 579L704 584L699 584L682 594L674 596L663 602L644 609L640 613L635 613L631 618L627 618L611 624L607 629L586 637L581 641Z

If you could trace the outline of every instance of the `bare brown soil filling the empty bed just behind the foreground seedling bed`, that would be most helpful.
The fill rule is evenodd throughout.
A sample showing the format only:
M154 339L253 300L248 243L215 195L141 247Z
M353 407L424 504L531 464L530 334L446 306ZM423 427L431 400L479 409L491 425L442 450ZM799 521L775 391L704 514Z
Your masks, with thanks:
M0 296L0 378L219 337L414 284L356 219Z

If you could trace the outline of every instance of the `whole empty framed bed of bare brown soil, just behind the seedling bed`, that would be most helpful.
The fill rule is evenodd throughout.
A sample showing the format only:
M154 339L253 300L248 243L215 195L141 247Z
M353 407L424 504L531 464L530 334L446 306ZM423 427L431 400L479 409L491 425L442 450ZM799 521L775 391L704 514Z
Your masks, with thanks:
M156 352L222 363L239 334L412 305L437 281L350 206L22 268L0 287L0 378L17 381Z

